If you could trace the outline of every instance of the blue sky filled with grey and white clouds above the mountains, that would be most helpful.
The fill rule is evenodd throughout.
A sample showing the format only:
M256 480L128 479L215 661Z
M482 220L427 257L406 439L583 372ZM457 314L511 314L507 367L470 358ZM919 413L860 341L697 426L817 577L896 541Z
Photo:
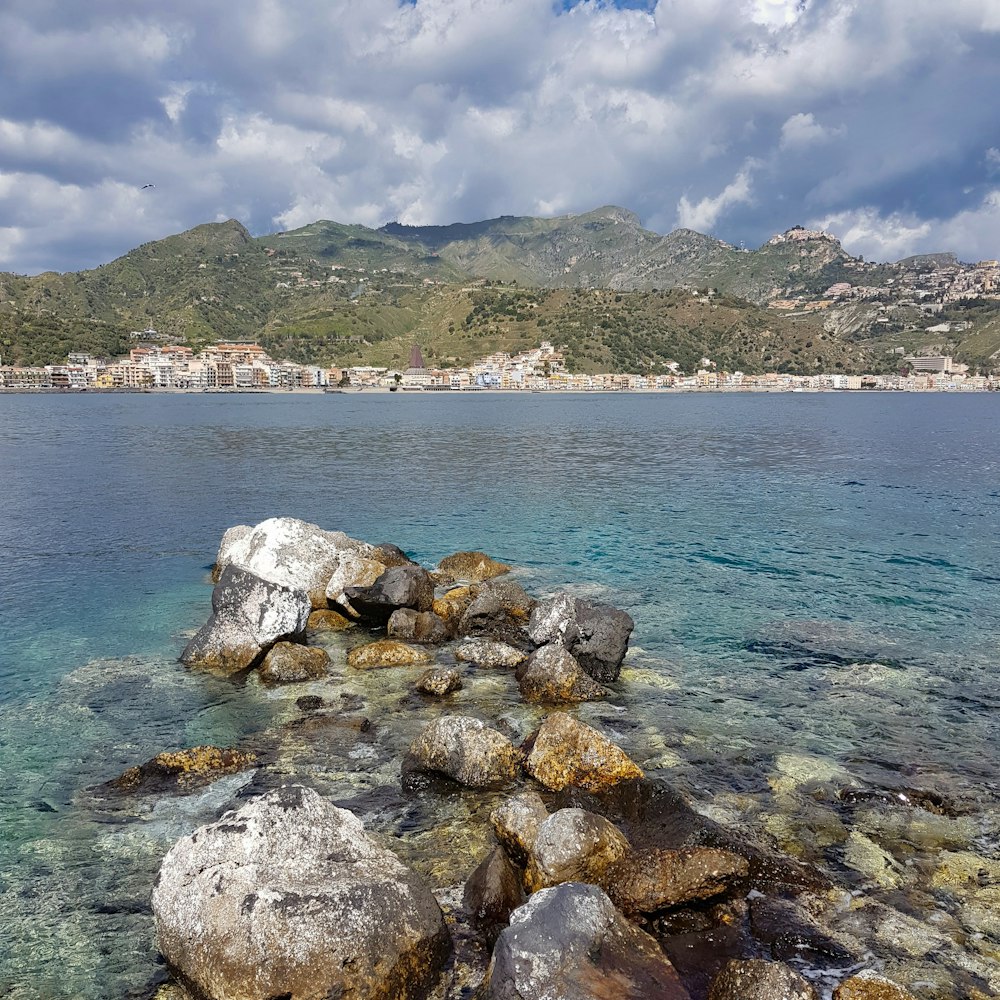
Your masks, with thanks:
M1000 0L0 3L0 270L603 205L1000 257Z

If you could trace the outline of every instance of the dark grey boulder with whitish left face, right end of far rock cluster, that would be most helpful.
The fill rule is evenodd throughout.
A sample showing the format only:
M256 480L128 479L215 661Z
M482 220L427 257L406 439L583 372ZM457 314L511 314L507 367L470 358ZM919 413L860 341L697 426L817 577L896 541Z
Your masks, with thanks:
M561 593L531 613L528 635L535 645L565 646L580 666L602 684L618 680L635 622L624 611Z

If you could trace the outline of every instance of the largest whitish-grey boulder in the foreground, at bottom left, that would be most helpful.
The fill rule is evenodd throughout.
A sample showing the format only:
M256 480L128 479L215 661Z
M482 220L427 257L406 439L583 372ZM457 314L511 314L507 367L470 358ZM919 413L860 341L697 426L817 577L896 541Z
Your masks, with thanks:
M178 841L153 889L160 951L206 997L427 995L450 942L422 880L352 813L285 786Z

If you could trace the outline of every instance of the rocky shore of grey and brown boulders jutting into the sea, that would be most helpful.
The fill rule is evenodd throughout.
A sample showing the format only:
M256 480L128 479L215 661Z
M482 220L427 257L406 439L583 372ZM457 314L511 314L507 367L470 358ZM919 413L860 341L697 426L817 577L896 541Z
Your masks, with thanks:
M634 623L610 604L537 599L484 553L428 571L290 518L227 531L213 579L182 662L293 707L253 745L165 751L102 790L246 777L236 807L163 860L158 1000L1000 991L1000 863L954 849L928 875L967 911L956 930L892 896L908 874L860 829L837 841L847 868L888 895L646 773L622 738ZM516 710L492 711L498 688ZM916 792L901 813L793 763L776 795L881 805L913 837L926 817L956 828Z

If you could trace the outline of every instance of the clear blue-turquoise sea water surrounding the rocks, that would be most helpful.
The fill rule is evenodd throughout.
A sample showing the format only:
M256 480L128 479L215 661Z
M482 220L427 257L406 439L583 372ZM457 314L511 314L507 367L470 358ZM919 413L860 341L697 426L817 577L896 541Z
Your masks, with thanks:
M969 832L945 847L1000 863L1000 394L7 394L0 996L138 997L162 978L160 860L249 779L102 798L125 768L252 744L302 690L339 687L388 735L340 756L283 744L279 767L363 811L397 781L415 724L396 718L400 678L359 691L341 669L276 694L177 662L223 532L279 515L428 567L483 550L536 596L624 608L622 680L582 717L706 814L856 891L879 886L830 835L844 788L952 803ZM531 725L506 678L461 698ZM385 794L366 823L454 881L431 857L440 817L422 829ZM933 870L944 848L881 844L902 891L924 891L906 865ZM958 921L952 903L904 908Z

